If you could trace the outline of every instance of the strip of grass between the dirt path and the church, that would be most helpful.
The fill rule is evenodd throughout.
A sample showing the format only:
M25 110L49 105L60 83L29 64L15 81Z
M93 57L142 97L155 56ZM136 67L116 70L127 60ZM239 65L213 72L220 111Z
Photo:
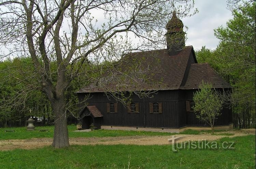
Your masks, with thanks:
M48 132L39 132L38 129L49 129ZM4 130L15 130L15 132L4 132ZM124 131L124 130L95 130L91 132L74 132L75 125L69 125L69 137L114 137L114 136L132 136L132 135L174 135L174 134L200 134L201 131L186 130L181 133L164 133L150 131ZM27 139L53 137L54 126L36 127L34 131L27 131L26 127L0 128L0 139ZM203 131L211 133L211 130ZM216 131L218 132L218 131ZM224 135L224 134L223 134Z

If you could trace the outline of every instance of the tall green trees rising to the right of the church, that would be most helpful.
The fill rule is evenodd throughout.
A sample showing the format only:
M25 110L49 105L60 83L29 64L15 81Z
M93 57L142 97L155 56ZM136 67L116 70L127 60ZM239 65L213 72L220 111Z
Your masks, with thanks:
M232 89L235 128L255 127L255 2L235 6L226 27L214 30L220 40L215 50L196 51L199 63L208 62Z

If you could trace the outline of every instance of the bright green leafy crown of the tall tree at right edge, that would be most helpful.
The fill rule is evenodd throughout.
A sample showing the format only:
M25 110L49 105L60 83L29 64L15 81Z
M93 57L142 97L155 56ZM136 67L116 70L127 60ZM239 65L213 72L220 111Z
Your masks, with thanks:
M233 111L243 114L240 119L245 124L251 117L255 121L255 2L238 7L232 14L234 18L227 22L226 28L215 30L221 40L215 53L226 63L223 74L235 87L231 99ZM246 112L253 114L247 119Z

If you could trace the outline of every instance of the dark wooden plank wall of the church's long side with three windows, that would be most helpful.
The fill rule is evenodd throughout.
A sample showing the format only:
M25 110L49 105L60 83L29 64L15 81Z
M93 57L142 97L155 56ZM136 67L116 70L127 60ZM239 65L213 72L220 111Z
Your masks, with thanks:
M139 113L128 113L127 107L120 102L117 104L117 113L107 113L106 104L116 101L114 99L109 100L103 93L91 93L92 97L87 102L88 105L95 105L103 114L102 125L177 128L179 126L178 94L178 90L158 91L153 98L145 97L144 101L143 98L134 95L132 102L139 103ZM80 100L83 99L84 95L78 95ZM150 113L150 102L162 103L162 113Z

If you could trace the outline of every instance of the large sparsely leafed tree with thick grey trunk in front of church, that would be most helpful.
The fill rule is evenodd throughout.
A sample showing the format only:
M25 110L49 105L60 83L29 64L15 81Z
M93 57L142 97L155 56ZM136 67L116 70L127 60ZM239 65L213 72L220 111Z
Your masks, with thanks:
M106 76L131 50L162 48L173 4L179 17L197 12L190 14L190 0L0 0L1 56L31 57L33 73L21 81L29 86L24 92L42 90L51 102L53 147L69 146L65 91L71 81Z

